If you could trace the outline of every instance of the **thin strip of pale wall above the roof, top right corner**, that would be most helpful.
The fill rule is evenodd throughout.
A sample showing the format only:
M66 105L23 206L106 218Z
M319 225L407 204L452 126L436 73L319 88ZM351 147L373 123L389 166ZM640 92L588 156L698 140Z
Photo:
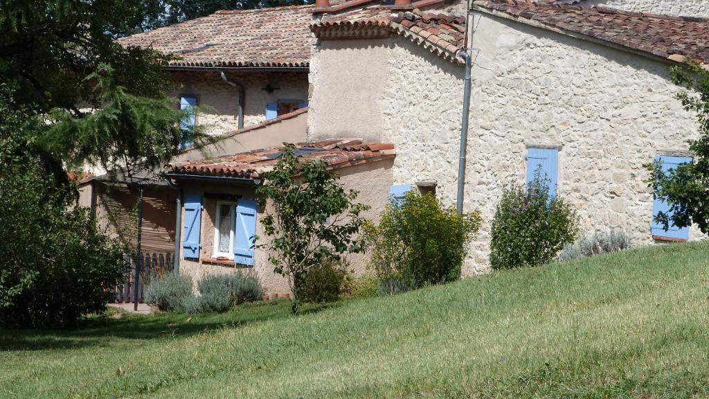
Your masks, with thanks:
M586 0L582 6L606 6L626 11L709 18L708 0Z

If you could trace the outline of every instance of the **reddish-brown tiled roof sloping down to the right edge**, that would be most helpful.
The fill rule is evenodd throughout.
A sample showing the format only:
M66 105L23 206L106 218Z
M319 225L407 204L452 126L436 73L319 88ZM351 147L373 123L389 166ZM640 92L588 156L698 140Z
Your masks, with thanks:
M707 19L515 0L476 0L474 8L554 31L580 33L661 58L691 58L709 64Z

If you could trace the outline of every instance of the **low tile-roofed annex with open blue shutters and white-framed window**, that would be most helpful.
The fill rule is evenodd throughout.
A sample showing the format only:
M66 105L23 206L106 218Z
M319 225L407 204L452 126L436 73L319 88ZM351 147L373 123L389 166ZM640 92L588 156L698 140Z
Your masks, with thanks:
M282 149L276 146L169 165L167 178L179 187L183 199L182 229L177 231L181 273L199 280L206 274L253 270L267 297L290 294L287 280L274 274L268 254L253 246L255 235L260 237L259 245L267 244L268 237L259 220L264 212L269 212L258 207L255 188L277 162ZM396 156L393 145L335 139L300 143L294 153L303 160L328 163L345 189L359 192L357 202L371 206L364 218L376 219L384 209ZM353 255L348 261L356 273L364 271L364 256Z

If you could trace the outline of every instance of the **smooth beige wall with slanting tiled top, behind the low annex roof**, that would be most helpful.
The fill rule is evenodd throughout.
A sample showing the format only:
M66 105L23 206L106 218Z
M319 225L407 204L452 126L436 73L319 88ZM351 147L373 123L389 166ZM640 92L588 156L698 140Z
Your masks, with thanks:
M214 158L259 148L281 146L284 142L301 143L306 141L308 112L298 113L296 111L292 115L252 125L241 131L227 133L220 137L216 143L209 144L199 150L195 148L187 150L174 158L172 162Z

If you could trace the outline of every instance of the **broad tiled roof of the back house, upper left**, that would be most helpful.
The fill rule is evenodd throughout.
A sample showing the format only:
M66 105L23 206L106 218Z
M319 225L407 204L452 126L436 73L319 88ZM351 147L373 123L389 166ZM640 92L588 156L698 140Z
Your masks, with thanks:
M118 39L182 57L182 67L308 67L313 6L218 11Z

